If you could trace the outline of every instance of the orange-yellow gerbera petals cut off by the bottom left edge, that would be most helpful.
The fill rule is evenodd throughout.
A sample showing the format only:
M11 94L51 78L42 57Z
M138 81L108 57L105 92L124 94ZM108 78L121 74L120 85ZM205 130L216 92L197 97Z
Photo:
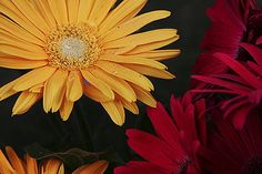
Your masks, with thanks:
M64 174L63 164L59 160L48 160L38 165L29 155L26 155L24 160L19 158L9 146L6 147L6 152L8 158L0 150L0 174ZM107 161L98 161L79 167L72 174L103 174L107 168Z

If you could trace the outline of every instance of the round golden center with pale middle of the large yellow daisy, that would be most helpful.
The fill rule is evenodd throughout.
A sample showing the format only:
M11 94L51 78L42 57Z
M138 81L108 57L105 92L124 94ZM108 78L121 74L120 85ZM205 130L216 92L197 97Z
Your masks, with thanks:
M94 29L88 24L58 27L47 37L49 64L74 70L84 69L98 60L101 49Z

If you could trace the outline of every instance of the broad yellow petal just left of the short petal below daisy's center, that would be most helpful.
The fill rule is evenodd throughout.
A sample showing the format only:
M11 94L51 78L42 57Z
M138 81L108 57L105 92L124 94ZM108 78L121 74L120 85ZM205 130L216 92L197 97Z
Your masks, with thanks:
M66 82L68 72L57 70L54 74L46 82L43 89L43 109L48 113L50 110L57 112L63 101L66 93Z

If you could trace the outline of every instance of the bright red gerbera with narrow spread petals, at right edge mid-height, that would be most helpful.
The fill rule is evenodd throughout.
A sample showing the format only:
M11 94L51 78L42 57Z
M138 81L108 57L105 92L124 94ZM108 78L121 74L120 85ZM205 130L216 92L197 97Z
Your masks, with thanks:
M224 117L230 116L235 127L244 125L245 117L262 101L262 50L255 45L242 43L254 61L240 62L224 53L214 57L234 73L221 73L212 76L193 75L193 79L219 88L192 90L193 92L229 93L233 98L224 100L222 110Z

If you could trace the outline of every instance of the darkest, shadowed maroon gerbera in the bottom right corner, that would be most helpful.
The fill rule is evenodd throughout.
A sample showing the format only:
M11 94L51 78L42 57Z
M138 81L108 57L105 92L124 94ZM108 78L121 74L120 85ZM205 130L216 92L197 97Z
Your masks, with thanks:
M209 146L200 147L205 168L212 174L261 174L262 173L262 117L248 117L242 130L215 117L216 132L210 134Z

